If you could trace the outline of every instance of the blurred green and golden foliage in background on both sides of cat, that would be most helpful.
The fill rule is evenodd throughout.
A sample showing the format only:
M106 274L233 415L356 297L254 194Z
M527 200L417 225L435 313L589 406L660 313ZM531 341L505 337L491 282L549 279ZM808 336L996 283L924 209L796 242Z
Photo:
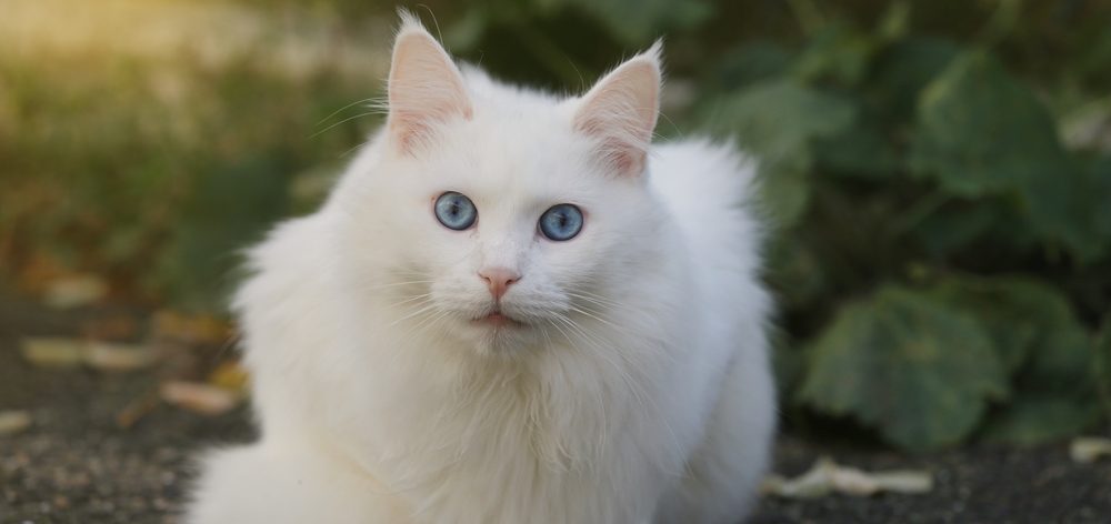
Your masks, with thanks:
M120 299L219 308L234 250L312 209L373 129L360 101L386 75L392 4L190 6L249 38L153 58L0 46L0 261L18 285L92 272ZM790 425L930 450L1107 422L1111 2L412 9L462 59L559 91L667 37L658 131L761 160Z

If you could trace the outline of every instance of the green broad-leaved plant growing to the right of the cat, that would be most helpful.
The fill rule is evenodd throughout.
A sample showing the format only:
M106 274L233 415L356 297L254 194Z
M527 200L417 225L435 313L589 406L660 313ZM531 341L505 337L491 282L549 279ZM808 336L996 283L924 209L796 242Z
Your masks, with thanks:
M909 450L1105 419L1084 319L1111 305L1085 282L1111 271L1111 171L990 48L831 24L720 99L712 129L761 158L789 245L790 405Z

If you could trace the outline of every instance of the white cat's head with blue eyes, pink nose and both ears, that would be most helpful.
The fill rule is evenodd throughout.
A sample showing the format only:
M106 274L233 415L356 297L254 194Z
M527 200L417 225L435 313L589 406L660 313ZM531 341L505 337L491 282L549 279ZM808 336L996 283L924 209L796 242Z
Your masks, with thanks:
M589 337L664 249L645 183L659 92L659 46L559 99L464 74L404 17L386 128L336 195L352 290L484 353Z

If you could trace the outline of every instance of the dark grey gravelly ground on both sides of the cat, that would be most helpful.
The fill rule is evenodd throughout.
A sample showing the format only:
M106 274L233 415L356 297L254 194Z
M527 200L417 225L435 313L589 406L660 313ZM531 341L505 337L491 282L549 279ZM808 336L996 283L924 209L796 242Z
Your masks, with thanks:
M209 417L160 406L120 429L116 414L150 394L153 374L42 370L19 356L20 336L73 334L88 314L96 312L59 314L0 299L0 410L28 410L34 421L0 436L0 523L174 522L190 456L253 435L246 410ZM907 456L784 436L775 468L794 475L821 455L868 470L928 470L937 486L918 496L764 498L751 522L1111 523L1111 462L1074 464L1064 443Z

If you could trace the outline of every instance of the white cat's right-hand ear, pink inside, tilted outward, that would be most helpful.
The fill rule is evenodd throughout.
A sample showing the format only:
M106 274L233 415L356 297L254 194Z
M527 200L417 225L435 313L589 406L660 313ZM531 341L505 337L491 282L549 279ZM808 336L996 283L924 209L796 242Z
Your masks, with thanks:
M661 47L657 41L599 80L574 115L574 129L597 139L600 158L620 174L644 171L660 112Z

